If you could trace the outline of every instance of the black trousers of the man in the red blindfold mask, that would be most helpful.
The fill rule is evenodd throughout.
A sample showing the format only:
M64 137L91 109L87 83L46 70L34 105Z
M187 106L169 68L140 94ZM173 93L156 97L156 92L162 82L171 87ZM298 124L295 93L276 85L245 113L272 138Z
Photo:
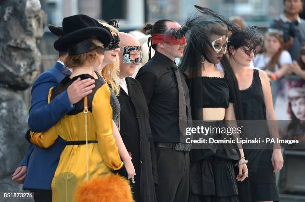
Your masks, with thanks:
M157 202L187 202L189 196L189 152L155 147L159 184Z

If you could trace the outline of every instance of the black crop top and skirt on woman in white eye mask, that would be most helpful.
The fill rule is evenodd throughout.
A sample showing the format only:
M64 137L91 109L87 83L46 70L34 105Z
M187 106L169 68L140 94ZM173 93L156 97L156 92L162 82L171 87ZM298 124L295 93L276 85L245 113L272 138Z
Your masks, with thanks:
M186 82L199 89L198 97L191 96L192 113L202 113L202 108L228 108L231 93L226 78L197 77ZM236 149L192 150L189 202L240 202L233 168L233 162L239 159Z

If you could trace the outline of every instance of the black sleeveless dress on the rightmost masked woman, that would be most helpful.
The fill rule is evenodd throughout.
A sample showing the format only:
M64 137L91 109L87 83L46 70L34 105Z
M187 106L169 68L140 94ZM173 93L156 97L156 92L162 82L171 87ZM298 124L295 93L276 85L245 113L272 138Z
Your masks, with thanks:
M253 70L251 86L245 90L240 90L240 97L245 120L266 120L264 94L257 69ZM244 150L244 152L246 159L249 161L252 201L279 201L275 173L273 173L271 163L273 151Z

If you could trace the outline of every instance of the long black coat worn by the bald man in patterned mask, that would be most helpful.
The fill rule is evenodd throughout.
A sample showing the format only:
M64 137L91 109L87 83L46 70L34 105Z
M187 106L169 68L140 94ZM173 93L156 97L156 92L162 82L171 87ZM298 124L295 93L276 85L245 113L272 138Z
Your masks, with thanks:
M127 77L128 95L120 88L120 135L136 170L135 183L130 183L136 202L156 202L156 154L149 122L149 111L140 83ZM126 176L125 169L119 172Z

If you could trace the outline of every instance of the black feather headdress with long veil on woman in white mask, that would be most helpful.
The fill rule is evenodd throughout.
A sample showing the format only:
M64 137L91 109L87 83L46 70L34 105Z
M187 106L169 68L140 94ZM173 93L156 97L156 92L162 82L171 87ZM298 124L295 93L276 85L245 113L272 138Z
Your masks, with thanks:
M187 45L179 68L187 77L192 117L193 119L203 119L202 63L205 60L209 63L218 63L219 60L217 62L215 60L216 50L213 49L212 42L218 38L222 38L222 40L227 38L226 36L228 36L229 31L237 33L241 29L226 17L219 15L209 8L195 7L200 13L190 16L185 22L185 26L188 28ZM216 53L218 54L218 52ZM204 61L202 61L202 58L204 58ZM220 62L223 70L226 72L225 77L232 92L235 116L237 119L242 119L238 84L234 72L225 54Z

